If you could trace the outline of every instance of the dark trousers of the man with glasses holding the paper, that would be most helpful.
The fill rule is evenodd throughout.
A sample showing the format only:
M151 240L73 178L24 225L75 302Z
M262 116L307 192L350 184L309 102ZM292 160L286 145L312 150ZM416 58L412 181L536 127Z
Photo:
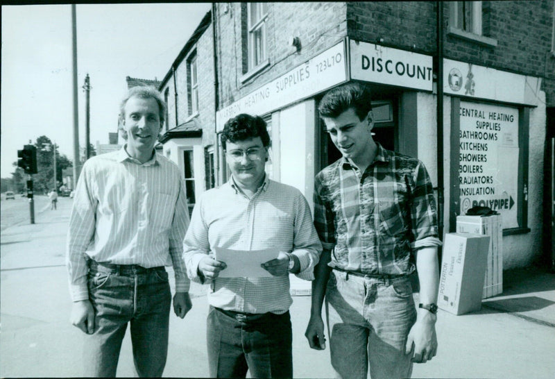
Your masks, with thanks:
M250 319L211 306L206 337L211 378L293 378L289 312Z

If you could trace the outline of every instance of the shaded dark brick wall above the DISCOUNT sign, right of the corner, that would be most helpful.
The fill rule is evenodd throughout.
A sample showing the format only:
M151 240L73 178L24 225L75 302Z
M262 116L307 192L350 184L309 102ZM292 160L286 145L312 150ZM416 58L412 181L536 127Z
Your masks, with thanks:
M544 78L547 105L555 106L555 58L549 55L553 1L483 1L483 31L497 47L445 34L445 58ZM444 3L445 29L449 3ZM351 2L348 34L355 40L436 54L436 3Z

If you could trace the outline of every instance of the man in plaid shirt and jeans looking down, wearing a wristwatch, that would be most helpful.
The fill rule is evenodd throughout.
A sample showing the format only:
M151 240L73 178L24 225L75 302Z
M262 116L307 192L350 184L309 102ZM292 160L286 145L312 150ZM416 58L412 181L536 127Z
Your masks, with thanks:
M347 83L318 107L341 154L314 183L314 224L323 244L305 333L341 378L407 378L436 355L438 239L432 183L420 160L373 140L370 91ZM418 271L420 305L409 275Z

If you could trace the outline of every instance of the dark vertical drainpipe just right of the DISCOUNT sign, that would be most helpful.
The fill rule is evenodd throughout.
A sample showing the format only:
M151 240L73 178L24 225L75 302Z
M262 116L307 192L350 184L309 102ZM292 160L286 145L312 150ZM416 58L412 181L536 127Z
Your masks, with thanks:
M438 160L438 234L443 239L443 2L437 1L437 49L438 49L438 81L437 81L437 160ZM441 249L439 250L441 254Z

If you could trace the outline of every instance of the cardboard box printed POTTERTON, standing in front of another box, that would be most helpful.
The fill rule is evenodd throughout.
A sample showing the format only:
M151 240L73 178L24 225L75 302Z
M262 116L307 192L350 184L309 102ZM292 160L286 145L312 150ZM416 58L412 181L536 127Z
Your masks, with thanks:
M439 277L439 308L452 314L480 310L489 245L488 235L445 235Z

